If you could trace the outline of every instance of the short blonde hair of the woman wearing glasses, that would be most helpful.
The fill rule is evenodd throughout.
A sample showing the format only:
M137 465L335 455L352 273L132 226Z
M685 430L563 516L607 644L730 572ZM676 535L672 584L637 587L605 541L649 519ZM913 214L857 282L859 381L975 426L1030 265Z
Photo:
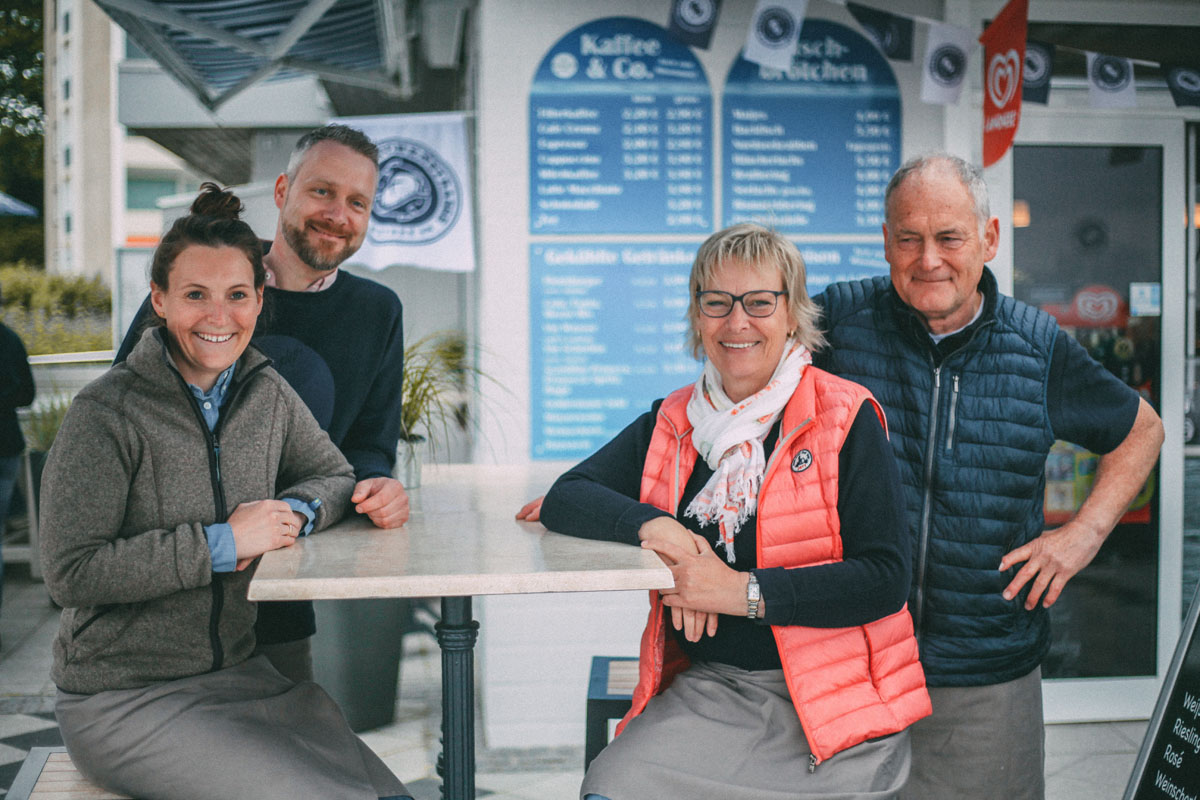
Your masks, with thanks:
M696 260L692 261L691 278L688 281L690 294L688 323L691 326L689 344L695 357L701 357L704 351L700 338L701 314L696 293L712 281L713 273L722 264L730 261L745 264L763 272L772 267L779 270L784 278L784 290L787 291L787 319L794 331L793 338L814 351L824 347L824 336L817 327L821 312L809 297L805 285L806 270L800 251L792 240L779 231L752 222L743 222L718 230L704 240L696 252Z

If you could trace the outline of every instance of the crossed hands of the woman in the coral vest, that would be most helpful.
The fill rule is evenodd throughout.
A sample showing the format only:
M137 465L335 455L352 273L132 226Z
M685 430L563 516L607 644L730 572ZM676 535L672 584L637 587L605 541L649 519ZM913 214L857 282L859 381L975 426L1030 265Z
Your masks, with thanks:
M718 558L703 536L691 534L691 540L688 549L678 547L673 541L642 542L642 547L653 549L671 567L671 577L674 578L676 585L674 589L660 590L662 602L671 607L672 612L676 608L689 608L697 613L708 613L714 620L718 614L744 614L749 581L746 575L733 570ZM692 642L700 639L698 634L695 639L688 638Z

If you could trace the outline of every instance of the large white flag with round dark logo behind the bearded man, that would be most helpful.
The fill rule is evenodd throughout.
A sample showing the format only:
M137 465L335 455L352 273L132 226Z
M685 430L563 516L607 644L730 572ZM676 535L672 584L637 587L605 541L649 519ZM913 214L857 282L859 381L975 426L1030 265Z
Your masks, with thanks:
M475 269L467 122L462 114L394 114L330 120L359 128L379 148L371 224L347 264L449 272Z

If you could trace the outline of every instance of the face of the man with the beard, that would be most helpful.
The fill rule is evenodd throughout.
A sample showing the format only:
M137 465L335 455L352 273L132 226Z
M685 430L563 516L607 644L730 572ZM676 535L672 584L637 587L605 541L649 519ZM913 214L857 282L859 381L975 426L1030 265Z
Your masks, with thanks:
M377 175L374 162L336 142L318 142L295 175L280 175L280 230L300 261L329 272L362 246Z

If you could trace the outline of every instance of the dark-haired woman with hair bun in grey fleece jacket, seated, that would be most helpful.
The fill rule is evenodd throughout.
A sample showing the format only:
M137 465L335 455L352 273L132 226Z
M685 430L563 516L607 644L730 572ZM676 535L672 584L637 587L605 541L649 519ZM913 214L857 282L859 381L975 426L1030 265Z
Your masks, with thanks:
M354 473L248 347L265 272L240 212L205 184L175 221L151 263L160 325L76 397L47 461L62 739L144 800L408 796L320 687L252 657L258 557L336 522Z

